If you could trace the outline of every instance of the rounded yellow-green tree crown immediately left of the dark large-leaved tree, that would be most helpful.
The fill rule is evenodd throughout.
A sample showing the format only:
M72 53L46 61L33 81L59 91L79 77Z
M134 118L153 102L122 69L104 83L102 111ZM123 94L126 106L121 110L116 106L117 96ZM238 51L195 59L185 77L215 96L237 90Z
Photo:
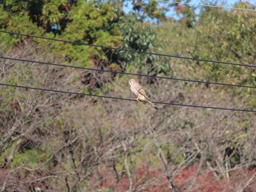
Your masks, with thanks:
M67 23L63 35L75 42L115 47L121 40L112 23L115 18L116 14L109 4L102 4L101 9L97 9L91 2L78 1L69 11L68 19L72 22ZM65 55L82 66L89 62L91 55L105 59L101 49L80 45L69 45L65 48Z

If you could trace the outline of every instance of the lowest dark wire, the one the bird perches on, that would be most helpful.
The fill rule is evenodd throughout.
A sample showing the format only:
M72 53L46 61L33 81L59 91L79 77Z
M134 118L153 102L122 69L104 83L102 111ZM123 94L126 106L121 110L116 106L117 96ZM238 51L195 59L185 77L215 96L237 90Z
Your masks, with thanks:
M118 99L118 100L125 100L125 101L136 101L136 99L129 99L129 98L121 98L121 97L114 97L114 96L100 96L100 95L94 95L89 93L78 93L78 92L70 92L70 91L59 91L59 90L53 90L48 88L33 88L29 86L22 86L22 85L10 85L6 83L1 83L2 86L9 86L9 87L15 87L15 88L26 88L26 89L32 89L37 91L49 91L49 92L55 92L55 93L68 93L68 94L75 94L80 96L94 96L94 97L100 97L100 98L106 98L106 99ZM242 109L235 109L235 108L225 108L225 107L211 107L211 106L200 106L200 105L193 105L193 104L177 104L177 103L166 103L161 101L152 101L155 104L165 104L165 105L176 105L181 107L196 107L196 108L203 108L203 109L212 109L212 110L230 110L230 111L239 111L239 112L256 112L256 110L242 110Z

